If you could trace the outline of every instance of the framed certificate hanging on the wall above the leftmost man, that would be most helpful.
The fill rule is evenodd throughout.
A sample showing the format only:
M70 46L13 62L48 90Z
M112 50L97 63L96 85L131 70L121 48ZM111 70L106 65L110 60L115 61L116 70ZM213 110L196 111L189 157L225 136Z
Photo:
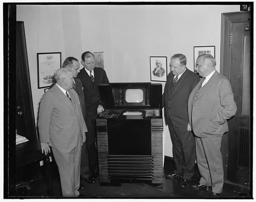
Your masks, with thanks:
M38 89L50 87L53 74L61 68L61 52L37 53Z

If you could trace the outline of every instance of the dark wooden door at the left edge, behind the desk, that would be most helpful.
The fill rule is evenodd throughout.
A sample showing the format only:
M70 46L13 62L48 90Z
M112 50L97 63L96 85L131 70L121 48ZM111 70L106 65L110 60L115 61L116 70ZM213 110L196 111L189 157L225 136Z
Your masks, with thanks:
M37 139L24 22L16 24L16 133Z

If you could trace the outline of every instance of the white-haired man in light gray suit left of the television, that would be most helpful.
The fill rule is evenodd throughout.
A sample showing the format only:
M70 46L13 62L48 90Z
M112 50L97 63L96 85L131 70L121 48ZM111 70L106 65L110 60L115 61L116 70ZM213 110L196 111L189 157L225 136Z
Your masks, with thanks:
M54 79L57 83L41 99L39 137L42 153L48 154L52 147L63 197L75 197L79 195L81 149L87 127L78 94L72 89L72 71L58 69Z

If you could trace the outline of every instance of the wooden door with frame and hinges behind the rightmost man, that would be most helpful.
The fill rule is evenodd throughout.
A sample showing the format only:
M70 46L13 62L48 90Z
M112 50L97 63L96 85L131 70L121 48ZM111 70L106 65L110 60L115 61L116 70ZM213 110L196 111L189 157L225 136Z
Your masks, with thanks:
M250 187L251 174L251 19L250 12L222 13L221 73L231 83L237 112L229 121L226 182Z

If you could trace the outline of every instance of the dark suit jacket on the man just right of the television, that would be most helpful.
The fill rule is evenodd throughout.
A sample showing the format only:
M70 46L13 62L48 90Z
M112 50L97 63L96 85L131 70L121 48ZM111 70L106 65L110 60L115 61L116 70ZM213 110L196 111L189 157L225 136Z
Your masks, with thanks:
M200 81L197 74L186 68L175 85L174 75L168 74L164 90L165 121L170 124L169 118L175 127L188 126L188 97L196 84Z

